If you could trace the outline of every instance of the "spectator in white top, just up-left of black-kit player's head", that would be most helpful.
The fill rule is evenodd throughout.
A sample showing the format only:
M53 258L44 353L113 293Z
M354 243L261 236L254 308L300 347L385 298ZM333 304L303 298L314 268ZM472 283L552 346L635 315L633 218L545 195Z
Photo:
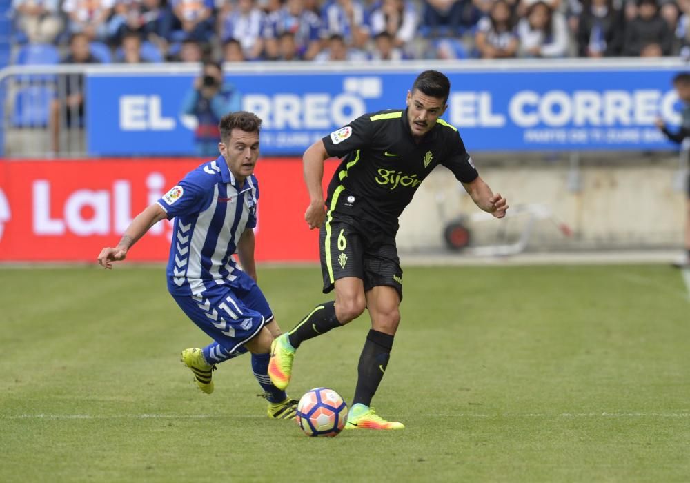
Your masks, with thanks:
M388 32L396 47L410 43L417 32L417 10L408 0L382 0L371 12L371 34Z

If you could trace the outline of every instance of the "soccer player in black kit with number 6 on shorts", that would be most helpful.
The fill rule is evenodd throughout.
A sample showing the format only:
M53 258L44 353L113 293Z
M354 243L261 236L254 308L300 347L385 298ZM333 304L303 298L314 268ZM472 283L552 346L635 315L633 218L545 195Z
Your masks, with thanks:
M496 218L508 205L480 178L457 129L440 117L448 107L449 79L422 72L407 93L405 110L358 117L316 141L304 152L304 180L311 203L304 219L320 228L324 293L335 288L335 302L319 304L293 330L273 341L268 375L286 388L295 351L307 339L351 322L366 308L371 330L359 357L357 388L346 429L402 429L370 407L388 365L400 323L402 268L395 234L398 217L424 178L442 164L462 183L473 201ZM328 186L324 161L342 157Z

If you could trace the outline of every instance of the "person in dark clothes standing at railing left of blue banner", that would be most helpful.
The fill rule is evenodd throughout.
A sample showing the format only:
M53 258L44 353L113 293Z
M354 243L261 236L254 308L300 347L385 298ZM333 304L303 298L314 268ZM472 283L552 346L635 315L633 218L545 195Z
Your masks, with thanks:
M91 54L89 38L85 32L72 34L70 53L62 63L98 63ZM68 129L81 128L84 115L84 75L60 75L57 81L57 98L50 105L50 130L52 150L60 151L60 134L64 126Z

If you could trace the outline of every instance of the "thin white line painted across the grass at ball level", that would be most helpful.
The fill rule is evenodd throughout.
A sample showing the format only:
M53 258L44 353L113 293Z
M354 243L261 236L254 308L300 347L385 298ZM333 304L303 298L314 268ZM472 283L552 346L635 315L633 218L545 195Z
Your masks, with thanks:
M431 417L664 417L664 418L690 418L690 413L447 413L427 414ZM205 420L218 417L230 419L255 419L257 415L206 415L206 414L123 414L123 415L90 415L90 414L21 414L0 415L0 420Z

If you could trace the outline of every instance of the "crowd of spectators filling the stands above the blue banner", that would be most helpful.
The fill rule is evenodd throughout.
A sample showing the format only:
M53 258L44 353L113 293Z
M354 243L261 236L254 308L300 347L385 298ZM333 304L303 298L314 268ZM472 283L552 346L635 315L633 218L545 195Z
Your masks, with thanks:
M96 61L659 57L690 43L690 0L14 0L14 43Z

